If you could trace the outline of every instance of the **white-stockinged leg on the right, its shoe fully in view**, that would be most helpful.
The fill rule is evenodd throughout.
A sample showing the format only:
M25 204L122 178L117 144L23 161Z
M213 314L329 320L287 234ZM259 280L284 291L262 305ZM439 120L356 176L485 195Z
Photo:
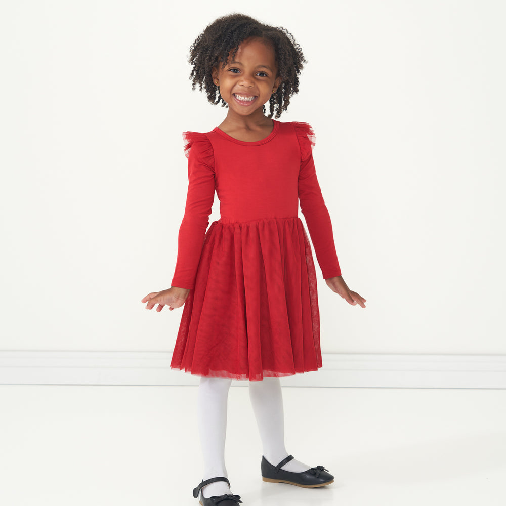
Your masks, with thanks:
M274 466L288 456L284 445L283 397L279 378L264 378L249 383L251 406L257 418L264 457ZM290 460L281 469L292 473L302 473L311 466Z

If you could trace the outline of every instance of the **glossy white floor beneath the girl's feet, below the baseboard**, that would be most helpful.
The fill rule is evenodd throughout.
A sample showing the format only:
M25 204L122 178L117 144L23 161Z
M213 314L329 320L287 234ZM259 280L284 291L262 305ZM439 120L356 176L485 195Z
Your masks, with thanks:
M285 388L289 452L321 489L264 483L246 388L227 465L244 506L504 506L506 390ZM196 387L0 385L0 504L193 505Z

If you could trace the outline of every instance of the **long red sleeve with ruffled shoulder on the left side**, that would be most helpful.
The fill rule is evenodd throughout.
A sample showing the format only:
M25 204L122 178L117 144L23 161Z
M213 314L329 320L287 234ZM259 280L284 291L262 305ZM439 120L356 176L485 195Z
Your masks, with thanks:
M188 158L188 194L171 285L193 289L215 197L214 153L205 134L184 132L183 139Z

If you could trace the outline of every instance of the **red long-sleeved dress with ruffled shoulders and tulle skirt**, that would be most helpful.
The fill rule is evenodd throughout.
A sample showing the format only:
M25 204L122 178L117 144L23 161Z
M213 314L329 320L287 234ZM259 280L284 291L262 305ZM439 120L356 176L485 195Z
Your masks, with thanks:
M244 142L219 128L184 134L188 196L172 286L191 289L171 367L198 376L289 376L321 367L316 272L341 275L316 178L314 133L274 121ZM209 224L214 193L220 219Z

